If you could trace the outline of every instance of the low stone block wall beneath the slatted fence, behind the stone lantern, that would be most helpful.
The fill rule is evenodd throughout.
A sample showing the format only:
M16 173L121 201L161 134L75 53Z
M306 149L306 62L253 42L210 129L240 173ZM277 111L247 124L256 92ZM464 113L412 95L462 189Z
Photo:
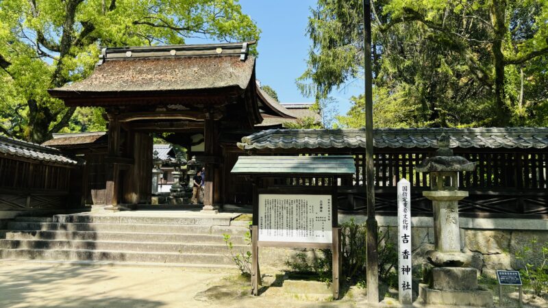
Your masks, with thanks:
M356 223L364 223L365 216L339 215L339 222L353 218ZM379 229L388 231L390 240L397 238L397 218L377 216ZM413 266L417 268L425 261L424 254L434 249L434 228L432 218L412 218ZM521 267L516 261L516 252L537 239L538 244L548 243L548 220L507 219L507 218L460 218L460 246L462 252L473 255L474 268L488 276L495 270L509 270ZM318 257L318 251L287 248L261 248L260 261L264 266L284 267L286 261L295 259L298 252L306 252L310 259ZM538 260L540 250L527 253L526 261Z

